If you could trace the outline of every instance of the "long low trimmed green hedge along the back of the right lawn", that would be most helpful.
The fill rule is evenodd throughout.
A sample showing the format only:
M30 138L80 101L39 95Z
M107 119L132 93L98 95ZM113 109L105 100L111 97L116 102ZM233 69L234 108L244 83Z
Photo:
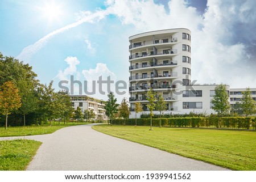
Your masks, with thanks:
M189 128L256 129L256 117L171 117L162 118L162 126ZM114 125L123 125L123 119L113 119ZM126 125L135 125L135 118L126 120ZM138 126L150 126L150 118L137 118ZM152 118L152 126L159 126L160 118Z

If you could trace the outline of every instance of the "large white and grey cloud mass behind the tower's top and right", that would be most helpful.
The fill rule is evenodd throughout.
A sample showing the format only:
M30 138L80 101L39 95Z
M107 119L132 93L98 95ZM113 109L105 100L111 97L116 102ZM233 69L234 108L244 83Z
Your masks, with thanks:
M109 10L123 24L133 24L137 33L166 28L188 28L192 32L192 79L199 83L226 83L232 87L255 87L254 70L247 63L250 54L237 37L253 37L239 24L255 26L255 1L208 1L203 16L183 0L168 3L170 13L153 1L107 1ZM242 35L244 34L244 35ZM242 79L246 78L246 79Z

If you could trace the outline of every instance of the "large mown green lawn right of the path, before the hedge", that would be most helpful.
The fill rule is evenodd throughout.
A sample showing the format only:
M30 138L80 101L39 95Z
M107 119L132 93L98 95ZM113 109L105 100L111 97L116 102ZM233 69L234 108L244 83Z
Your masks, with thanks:
M256 132L97 125L93 129L232 170L256 170ZM146 151L145 151L146 153Z

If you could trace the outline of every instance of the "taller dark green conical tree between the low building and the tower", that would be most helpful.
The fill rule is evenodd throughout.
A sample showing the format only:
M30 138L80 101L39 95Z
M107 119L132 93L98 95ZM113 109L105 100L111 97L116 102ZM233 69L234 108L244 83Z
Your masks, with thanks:
M117 104L117 99L114 98L113 92L110 92L108 94L108 101L106 101L106 105L104 106L104 109L106 110L106 115L109 117L111 125L112 123L112 118L115 113L118 112L118 104Z

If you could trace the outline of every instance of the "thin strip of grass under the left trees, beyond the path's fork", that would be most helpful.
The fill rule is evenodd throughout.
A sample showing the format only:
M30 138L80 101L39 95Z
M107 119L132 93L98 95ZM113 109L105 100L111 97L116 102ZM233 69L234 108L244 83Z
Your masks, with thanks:
M7 130L5 128L0 128L0 137L13 137L13 136L34 136L37 134L49 134L53 133L56 130L67 126L75 126L75 125L84 125L89 124L89 122L68 122L68 124L57 124L57 122L53 123L52 126L41 125L41 126L15 126L9 127Z

